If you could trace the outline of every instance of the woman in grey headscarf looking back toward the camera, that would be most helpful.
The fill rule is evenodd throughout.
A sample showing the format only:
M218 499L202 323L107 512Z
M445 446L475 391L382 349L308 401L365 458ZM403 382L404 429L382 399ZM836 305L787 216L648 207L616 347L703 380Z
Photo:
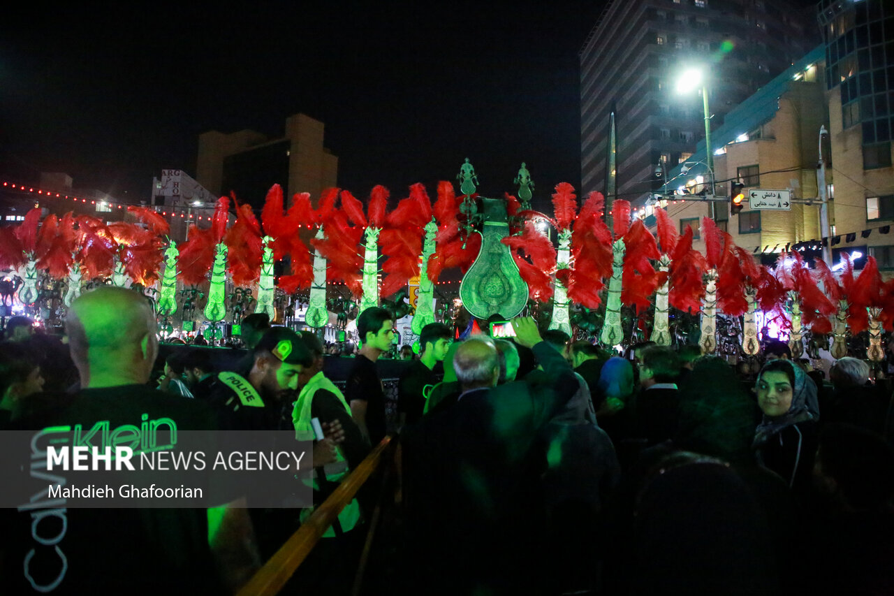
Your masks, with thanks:
M787 360L767 362L755 385L763 420L755 431L759 464L778 473L790 488L810 486L820 419L816 385Z

